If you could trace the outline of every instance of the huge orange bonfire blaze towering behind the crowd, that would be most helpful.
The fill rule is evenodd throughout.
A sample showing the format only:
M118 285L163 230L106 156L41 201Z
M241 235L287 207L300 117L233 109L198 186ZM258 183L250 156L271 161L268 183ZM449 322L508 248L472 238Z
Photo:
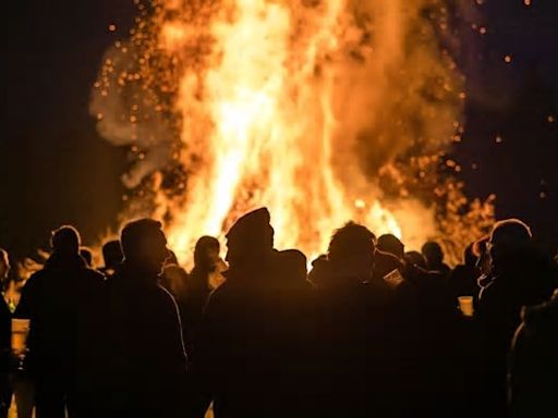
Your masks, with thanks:
M439 150L453 134L460 78L427 16L439 3L156 1L149 48L173 63L168 107L187 172L179 197L158 199L172 212L172 248L190 254L199 236L221 235L258 206L271 212L278 247L308 255L351 219L408 243L432 235L432 212L388 199L374 175L417 143ZM111 111L96 102L96 114ZM110 120L99 119L106 134ZM138 138L147 121L134 116L131 137L148 156L169 139Z

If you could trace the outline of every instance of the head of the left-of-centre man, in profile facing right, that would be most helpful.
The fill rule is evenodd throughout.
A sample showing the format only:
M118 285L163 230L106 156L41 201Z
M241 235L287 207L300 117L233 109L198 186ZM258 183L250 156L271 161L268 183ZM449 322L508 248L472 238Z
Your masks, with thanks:
M144 270L146 274L160 274L169 257L160 222L144 218L128 223L120 234L120 243L124 262Z

